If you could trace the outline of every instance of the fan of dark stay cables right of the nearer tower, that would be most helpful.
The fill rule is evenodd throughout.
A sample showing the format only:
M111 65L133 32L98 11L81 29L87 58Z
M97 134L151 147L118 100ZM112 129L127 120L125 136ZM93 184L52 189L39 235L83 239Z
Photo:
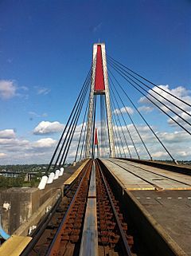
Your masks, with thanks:
M173 95L169 91L161 88L158 85L155 85L145 77L138 75L138 73L135 73L133 70L121 64L119 61L116 61L113 57L108 55L105 55L104 57L107 57L112 114L113 116L116 116L113 117L113 124L116 126L116 128L114 128L116 137L116 156L125 156L125 149L127 148L130 158L132 158L132 149L134 149L135 157L139 159L140 144L142 144L142 148L144 148L150 160L153 160L150 150L146 145L146 142L143 140L141 132L138 131L138 126L135 124L131 113L128 111L127 102L129 102L138 113L138 116L140 116L143 122L146 124L146 127L150 129L150 132L153 134L155 140L161 144L162 148L165 150L168 156L170 156L170 159L173 160L174 163L177 163L177 161L171 155L170 151L166 148L166 145L159 138L158 134L154 132L154 128L152 128L148 121L146 121L146 118L138 110L138 107L134 104L134 100L131 99L128 90L131 88L135 89L138 93L144 96L148 102L153 104L154 107L158 108L163 114L170 117L170 119L173 120L173 122L177 124L178 127L183 129L189 135L191 135L191 132L189 131L191 124L187 119L189 116L191 116L191 112L187 111L187 108L191 107L191 105L185 102L185 100L182 100L181 98ZM118 76L119 79L116 78L116 76ZM122 79L123 83L121 82ZM154 88L151 87L152 85L154 85ZM166 97L165 93L169 96ZM123 100L124 96L126 97L125 101ZM120 104L122 107L120 107ZM170 113L173 113L174 116L171 116ZM184 115L181 115L182 113ZM127 116L130 124L127 124ZM134 128L134 130L132 130L132 128ZM121 131L121 135L119 134L119 131ZM139 145L138 147L136 146L137 143ZM116 149L118 149L118 152Z

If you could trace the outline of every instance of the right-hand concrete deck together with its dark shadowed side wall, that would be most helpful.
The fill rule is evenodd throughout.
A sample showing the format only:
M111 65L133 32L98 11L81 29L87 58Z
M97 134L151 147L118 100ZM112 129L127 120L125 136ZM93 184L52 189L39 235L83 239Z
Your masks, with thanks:
M129 209L127 215L148 244L154 243L161 255L191 256L191 177L141 163L111 161L103 163L118 183L119 196ZM131 175L139 179L131 179ZM131 182L139 185L140 179L145 187L136 188L136 183L132 187ZM148 190L146 182L155 189ZM147 238L146 234L152 235Z

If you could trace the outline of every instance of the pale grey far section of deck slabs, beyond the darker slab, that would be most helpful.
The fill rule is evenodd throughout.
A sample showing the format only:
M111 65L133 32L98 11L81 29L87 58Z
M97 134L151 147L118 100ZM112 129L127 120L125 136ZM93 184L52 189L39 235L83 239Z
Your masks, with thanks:
M103 160L127 190L191 190L191 176L127 160Z

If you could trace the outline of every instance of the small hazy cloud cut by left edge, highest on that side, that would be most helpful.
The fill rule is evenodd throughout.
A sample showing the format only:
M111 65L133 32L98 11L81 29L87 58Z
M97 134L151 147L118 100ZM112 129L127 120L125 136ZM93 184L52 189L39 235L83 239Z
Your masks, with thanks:
M0 98L8 100L16 96L16 85L11 80L0 80Z

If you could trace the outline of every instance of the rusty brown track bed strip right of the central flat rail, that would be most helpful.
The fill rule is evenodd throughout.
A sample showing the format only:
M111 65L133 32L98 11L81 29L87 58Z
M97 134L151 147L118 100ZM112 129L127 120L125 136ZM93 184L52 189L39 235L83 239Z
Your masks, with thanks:
M133 237L127 234L127 223L120 212L119 202L115 199L98 161L96 161L96 183L99 243L104 246L104 254L107 255L108 249L115 250L115 247L119 247L122 255L130 256Z

